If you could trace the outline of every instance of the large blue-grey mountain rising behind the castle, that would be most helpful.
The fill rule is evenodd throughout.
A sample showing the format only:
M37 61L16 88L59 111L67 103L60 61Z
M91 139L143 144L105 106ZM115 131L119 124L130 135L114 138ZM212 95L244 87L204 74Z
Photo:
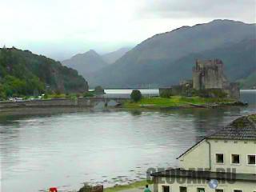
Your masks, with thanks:
M105 87L170 86L191 78L196 58L220 58L231 80L255 68L255 24L214 20L154 35L90 77ZM246 46L243 47L243 46Z

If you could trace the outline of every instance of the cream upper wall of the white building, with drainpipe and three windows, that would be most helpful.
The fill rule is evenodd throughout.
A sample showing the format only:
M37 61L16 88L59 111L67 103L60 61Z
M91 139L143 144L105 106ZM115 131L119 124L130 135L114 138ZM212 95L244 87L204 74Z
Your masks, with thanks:
M228 171L235 169L236 173L255 174L256 166L247 165L247 154L256 154L256 141L242 140L213 140L210 142L210 161L209 161L209 145L206 140L203 140L198 146L187 152L179 158L180 166L183 169L192 168L210 168L211 171L216 171L220 168ZM215 162L215 154L224 154L224 163L218 164ZM231 154L240 155L240 164L234 165L231 163Z

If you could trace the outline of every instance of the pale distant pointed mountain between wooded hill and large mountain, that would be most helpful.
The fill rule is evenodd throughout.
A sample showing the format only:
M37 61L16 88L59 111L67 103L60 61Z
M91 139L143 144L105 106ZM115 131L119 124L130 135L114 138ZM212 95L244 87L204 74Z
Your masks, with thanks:
M108 65L94 50L76 54L72 58L62 61L62 64L78 70L78 73L84 78Z

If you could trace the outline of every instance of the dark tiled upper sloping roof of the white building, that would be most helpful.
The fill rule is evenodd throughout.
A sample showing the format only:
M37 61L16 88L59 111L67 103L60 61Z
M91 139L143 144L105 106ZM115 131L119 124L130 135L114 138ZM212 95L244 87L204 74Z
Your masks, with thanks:
M256 140L256 114L250 114L237 118L231 122L228 126L225 126L221 130L217 130L214 134L210 134L205 138L202 138L194 146L198 146L204 139L234 139L234 140ZM194 146L182 153L178 158L181 158L188 151L192 150ZM177 158L177 159L178 159Z

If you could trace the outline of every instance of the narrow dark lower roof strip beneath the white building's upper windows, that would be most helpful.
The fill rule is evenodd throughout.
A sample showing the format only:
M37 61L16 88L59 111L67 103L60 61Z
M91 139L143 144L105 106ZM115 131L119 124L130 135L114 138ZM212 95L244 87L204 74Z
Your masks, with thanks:
M151 174L153 177L165 178L201 178L201 179L217 179L229 181L251 181L256 182L256 174L237 174L228 172L212 172L200 170L181 170L171 169Z

